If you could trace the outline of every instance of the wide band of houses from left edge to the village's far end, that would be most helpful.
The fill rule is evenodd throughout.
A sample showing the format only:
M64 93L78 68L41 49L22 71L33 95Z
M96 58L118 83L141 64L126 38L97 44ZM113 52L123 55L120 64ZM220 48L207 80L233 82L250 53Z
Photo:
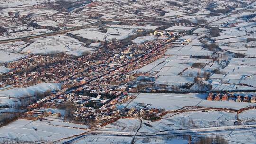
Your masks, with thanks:
M115 48L119 42L110 42L108 47L111 53L99 49L95 53L79 58L71 58L66 54L54 57L30 56L9 63L7 67L13 70L4 75L2 85L28 87L41 82L62 82L63 89L88 83L119 85L135 78L130 75L134 69L143 67L161 57L166 49L163 45L169 41L159 39L129 45L121 49Z

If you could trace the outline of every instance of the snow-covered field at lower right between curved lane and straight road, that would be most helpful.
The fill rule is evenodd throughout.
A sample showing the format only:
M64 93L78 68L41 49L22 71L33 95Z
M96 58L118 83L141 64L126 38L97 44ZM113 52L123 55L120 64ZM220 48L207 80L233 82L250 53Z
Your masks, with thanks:
M169 113L161 120L145 122L139 130L141 133L156 133L166 130L192 129L216 126L234 125L237 121L236 113L219 111L191 111L183 113Z

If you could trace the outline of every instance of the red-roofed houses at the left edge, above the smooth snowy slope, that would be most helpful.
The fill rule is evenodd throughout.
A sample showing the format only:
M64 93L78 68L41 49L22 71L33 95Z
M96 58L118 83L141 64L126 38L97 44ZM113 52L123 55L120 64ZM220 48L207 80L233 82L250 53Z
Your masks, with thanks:
M4 79L0 83L0 87L5 87L7 85L12 85L14 87L27 87L37 84L37 81L40 80L39 77L42 77L42 74L47 75L50 73L41 73L41 71L43 71L41 68L37 71L32 70L39 67L45 67L53 63L61 63L66 61L68 58L69 57L64 54L58 54L54 57L33 55L8 63L6 67L11 70L3 74ZM50 79L42 78L41 81L50 81Z

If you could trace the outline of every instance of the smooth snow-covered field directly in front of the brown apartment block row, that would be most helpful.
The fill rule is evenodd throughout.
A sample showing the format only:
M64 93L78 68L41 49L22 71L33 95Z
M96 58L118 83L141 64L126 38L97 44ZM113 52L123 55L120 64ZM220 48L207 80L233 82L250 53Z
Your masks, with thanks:
M151 104L149 108L165 110L177 110L185 106L197 106L204 108L227 108L239 110L248 106L256 106L256 103L231 102L231 101L208 101L206 94L150 94L140 93L129 103L128 107L135 107L138 103Z

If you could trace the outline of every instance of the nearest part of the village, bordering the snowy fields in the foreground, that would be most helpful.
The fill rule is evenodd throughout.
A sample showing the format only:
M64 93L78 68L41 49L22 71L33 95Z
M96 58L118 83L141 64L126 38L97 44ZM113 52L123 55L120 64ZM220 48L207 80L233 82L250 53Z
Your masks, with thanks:
M58 113L46 113L45 108L58 108L58 105L65 102L73 102L76 106L75 112L72 114L75 121L93 121L98 124L103 124L113 120L116 117L143 117L144 119L152 120L157 118L160 113L158 109L149 108L149 104L139 103L135 107L124 108L132 99L133 95L129 95L126 91L119 91L109 87L112 91L113 98L110 99L102 93L101 90L91 90L87 87L83 89L77 89L70 94L53 94L47 96L44 99L38 100L36 103L29 105L28 111L23 118L36 120L44 115L51 115L60 117ZM116 87L117 88L117 87ZM97 95L96 97L88 95L78 95L77 93L83 93L86 91L90 95ZM107 92L107 91L105 91ZM110 92L110 90L108 91ZM98 95L101 94L101 95ZM114 95L115 94L115 95ZM43 109L42 109L43 108Z

